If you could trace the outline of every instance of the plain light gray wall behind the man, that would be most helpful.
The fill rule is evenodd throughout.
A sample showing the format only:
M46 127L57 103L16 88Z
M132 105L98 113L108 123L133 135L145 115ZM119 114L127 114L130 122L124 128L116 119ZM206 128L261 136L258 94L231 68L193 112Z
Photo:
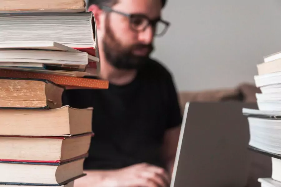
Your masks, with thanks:
M254 83L256 64L281 51L280 0L168 0L163 17L171 27L153 56L179 90Z

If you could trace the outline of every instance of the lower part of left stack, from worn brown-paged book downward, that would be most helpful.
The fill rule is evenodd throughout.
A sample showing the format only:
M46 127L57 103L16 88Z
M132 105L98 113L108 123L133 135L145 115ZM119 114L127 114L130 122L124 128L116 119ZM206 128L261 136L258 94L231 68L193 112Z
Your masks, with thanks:
M62 106L47 80L0 79L0 186L67 186L84 176L92 108Z

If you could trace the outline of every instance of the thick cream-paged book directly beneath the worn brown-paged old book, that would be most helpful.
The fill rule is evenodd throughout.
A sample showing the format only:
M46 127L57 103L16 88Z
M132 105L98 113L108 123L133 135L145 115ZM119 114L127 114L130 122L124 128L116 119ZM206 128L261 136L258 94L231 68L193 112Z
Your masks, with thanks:
M2 136L72 136L92 132L93 108L0 109ZM15 117L16 116L16 117Z

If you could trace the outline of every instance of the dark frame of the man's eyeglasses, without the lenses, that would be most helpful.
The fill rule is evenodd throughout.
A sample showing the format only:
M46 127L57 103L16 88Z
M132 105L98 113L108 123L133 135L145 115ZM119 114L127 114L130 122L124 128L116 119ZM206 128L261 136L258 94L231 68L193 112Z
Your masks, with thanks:
M123 16L128 17L129 20L130 20L130 23L131 23L131 20L133 20L132 18L134 18L134 17L142 17L142 18L147 19L147 20L148 20L148 24L147 24L144 28L142 28L141 30L136 30L136 29L134 29L134 28L131 26L131 24L130 24L131 29L132 29L133 31L135 31L135 32L143 32L143 31L145 31L145 29L146 29L149 25L151 25L153 28L155 28L157 22L160 21L160 22L162 22L162 23L165 25L165 29L164 29L160 34L155 34L155 33L154 33L154 35L155 35L155 36L163 36L163 35L167 32L167 30L168 30L168 28L169 28L169 26L170 26L170 22L165 21L165 20L162 20L161 18L156 19L156 20L151 20L151 19L149 19L149 18L148 18L146 15L144 15L144 14L128 14L128 13L123 13L123 12L120 12L120 11L117 11L117 10L113 10L112 8L110 8L110 7L108 7L108 6L104 6L104 5L101 5L101 6L99 6L99 7L100 7L101 10L104 10L104 11L106 11L106 12L109 12L109 13L110 13L110 12L114 12L114 13L118 13L118 14L120 14L120 15L123 15Z

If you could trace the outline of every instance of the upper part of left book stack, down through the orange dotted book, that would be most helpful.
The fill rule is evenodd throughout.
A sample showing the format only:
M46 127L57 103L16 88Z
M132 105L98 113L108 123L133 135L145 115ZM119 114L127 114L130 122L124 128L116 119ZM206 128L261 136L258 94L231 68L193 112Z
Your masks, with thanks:
M108 86L104 80L81 79L96 77L100 71L96 21L86 12L84 0L1 1L0 35L1 77L50 78L64 86Z

